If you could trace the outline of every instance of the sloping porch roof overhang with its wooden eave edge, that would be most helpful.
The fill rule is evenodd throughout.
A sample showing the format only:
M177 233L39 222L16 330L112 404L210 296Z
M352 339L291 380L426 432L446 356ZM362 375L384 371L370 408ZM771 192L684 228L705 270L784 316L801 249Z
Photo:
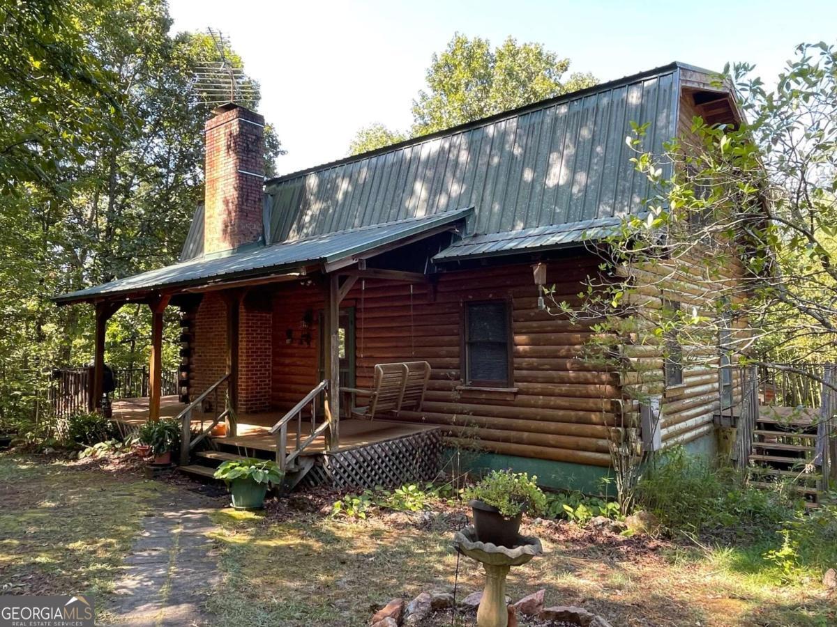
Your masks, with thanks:
M311 271L330 273L393 247L430 237L464 221L473 207L386 222L351 231L249 246L223 256L189 260L54 298L59 304L142 300L157 293L194 293L243 282L279 282Z

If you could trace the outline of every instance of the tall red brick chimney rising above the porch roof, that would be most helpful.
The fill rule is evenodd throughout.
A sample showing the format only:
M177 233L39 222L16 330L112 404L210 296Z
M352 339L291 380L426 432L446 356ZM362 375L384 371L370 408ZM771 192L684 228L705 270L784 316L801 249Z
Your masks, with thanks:
M264 117L233 103L213 114L205 126L204 254L256 242L264 233Z

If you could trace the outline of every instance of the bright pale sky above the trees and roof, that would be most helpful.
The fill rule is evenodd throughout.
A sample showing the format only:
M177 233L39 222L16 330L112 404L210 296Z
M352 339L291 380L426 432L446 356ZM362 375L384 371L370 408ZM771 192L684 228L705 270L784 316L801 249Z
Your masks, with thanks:
M169 0L169 11L174 32L229 35L288 151L279 174L347 155L372 122L407 130L431 56L455 32L543 43L600 81L675 60L716 70L747 61L769 84L798 43L837 43L834 0Z

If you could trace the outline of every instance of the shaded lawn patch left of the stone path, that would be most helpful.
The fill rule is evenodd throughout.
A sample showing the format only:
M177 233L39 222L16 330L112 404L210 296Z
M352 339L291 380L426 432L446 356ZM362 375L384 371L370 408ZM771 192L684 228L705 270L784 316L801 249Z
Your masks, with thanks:
M0 456L3 594L106 596L141 517L168 490L66 461Z

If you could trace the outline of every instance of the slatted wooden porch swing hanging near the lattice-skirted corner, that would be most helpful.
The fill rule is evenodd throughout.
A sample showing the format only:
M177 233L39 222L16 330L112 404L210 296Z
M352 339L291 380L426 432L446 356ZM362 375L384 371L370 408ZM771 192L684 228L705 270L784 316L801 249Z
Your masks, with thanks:
M430 364L426 361L403 361L377 364L371 390L341 388L346 393L347 416L372 420L376 415L403 409L421 411L424 392L430 379ZM368 396L369 404L355 406L355 397Z

